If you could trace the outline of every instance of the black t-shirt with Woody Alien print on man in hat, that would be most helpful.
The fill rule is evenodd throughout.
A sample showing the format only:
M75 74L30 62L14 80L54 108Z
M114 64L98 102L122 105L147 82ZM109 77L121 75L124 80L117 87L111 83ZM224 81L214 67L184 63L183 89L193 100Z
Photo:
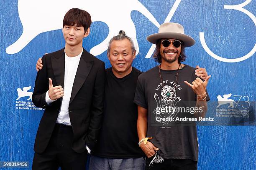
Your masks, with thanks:
M186 80L192 84L196 79L195 70L184 65L178 76L178 70L161 70L161 82L156 66L138 77L134 102L148 110L147 137L153 137L150 142L165 159L198 159L193 115L197 95L184 83ZM210 100L208 94L207 100Z

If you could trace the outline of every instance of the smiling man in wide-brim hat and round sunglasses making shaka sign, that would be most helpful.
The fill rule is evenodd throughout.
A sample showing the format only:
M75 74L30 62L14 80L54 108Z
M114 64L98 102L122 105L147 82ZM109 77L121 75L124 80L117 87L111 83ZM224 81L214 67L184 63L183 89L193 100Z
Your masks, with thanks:
M186 59L184 47L195 44L182 25L164 23L147 40L156 44L154 59L159 65L138 77L134 98L146 170L196 170L195 122L207 111L210 76L202 80L195 75L195 68L181 63Z

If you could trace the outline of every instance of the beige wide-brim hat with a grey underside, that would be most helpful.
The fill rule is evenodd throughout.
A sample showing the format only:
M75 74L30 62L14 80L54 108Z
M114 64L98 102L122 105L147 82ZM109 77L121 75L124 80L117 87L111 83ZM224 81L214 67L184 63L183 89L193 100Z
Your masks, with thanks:
M184 47L190 47L195 44L195 40L184 34L184 28L178 23L163 23L160 25L158 33L149 35L147 40L156 44L162 38L181 40L184 43Z

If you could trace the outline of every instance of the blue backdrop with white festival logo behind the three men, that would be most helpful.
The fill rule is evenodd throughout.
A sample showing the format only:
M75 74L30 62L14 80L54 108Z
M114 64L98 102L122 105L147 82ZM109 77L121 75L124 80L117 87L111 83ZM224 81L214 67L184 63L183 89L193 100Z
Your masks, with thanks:
M110 62L104 40L119 30L125 30L138 42L134 67L146 71L156 66L146 37L158 32L159 24L176 22L196 40L194 46L186 48L188 57L184 63L205 67L212 75L207 87L211 100L217 102L218 95L231 93L230 99L237 102L255 101L255 0L109 0L109 6L104 1L94 1L95 4L87 0L0 0L0 161L28 161L32 165L34 140L43 113L30 99L35 64L45 52L64 47L61 23L64 12L72 7L87 10L86 5L92 6L88 10L94 22L83 47L92 49L91 53L106 67ZM102 6L106 10L100 10ZM255 126L197 129L199 170L256 169Z

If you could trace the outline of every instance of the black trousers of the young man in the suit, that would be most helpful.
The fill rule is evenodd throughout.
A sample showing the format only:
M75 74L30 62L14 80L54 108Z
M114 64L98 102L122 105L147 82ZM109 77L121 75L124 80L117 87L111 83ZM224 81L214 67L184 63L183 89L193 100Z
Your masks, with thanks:
M72 127L56 124L44 153L35 153L32 170L85 170L87 152L72 150L72 140Z

